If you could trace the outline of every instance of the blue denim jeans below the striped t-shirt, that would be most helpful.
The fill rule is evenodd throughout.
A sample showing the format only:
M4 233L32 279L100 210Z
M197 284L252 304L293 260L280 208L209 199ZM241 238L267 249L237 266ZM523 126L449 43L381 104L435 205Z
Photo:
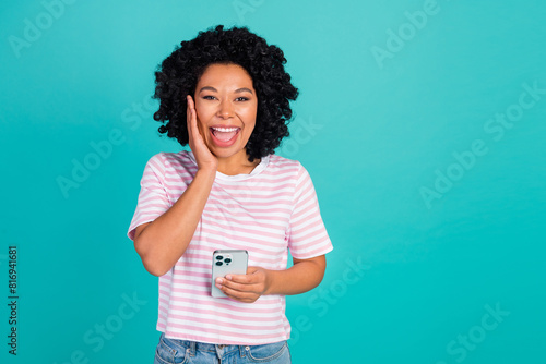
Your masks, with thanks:
M263 345L216 345L159 337L154 364L290 364L286 341Z

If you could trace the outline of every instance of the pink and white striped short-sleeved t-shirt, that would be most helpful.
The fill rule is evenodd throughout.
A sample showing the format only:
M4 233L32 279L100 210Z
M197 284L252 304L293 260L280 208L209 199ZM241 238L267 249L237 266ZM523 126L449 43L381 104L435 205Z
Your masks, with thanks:
M198 170L191 151L161 153L144 169L128 236L175 204ZM287 340L290 325L284 295L254 303L211 295L216 250L247 250L248 265L286 269L287 250L298 259L332 250L314 187L298 162L262 158L250 174L216 172L209 199L188 248L159 277L157 330L167 338L215 344L263 344Z

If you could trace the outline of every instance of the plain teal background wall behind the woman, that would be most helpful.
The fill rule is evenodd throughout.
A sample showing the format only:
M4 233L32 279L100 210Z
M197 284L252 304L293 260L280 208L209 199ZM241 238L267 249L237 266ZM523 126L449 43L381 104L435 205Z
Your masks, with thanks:
M72 2L49 24L40 1L0 5L2 363L152 363L157 278L126 233L146 160L180 149L152 119L153 72L216 24L278 45L300 89L278 154L309 170L335 247L321 286L287 298L294 363L546 363L546 94L485 129L518 111L523 84L546 89L544 2L438 0L415 34L405 12L422 0ZM378 62L400 27L407 40ZM456 167L476 139L485 155ZM96 168L63 194L85 158Z

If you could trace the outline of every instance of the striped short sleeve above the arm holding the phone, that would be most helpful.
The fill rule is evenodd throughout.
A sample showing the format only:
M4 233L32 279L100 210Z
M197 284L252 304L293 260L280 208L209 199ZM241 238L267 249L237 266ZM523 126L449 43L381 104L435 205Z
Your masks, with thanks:
M300 165L288 231L288 247L296 259L308 259L333 250L311 178Z

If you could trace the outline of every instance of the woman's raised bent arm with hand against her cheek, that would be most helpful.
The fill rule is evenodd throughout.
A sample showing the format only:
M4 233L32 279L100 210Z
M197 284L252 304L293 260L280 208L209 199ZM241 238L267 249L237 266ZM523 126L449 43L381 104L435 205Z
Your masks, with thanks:
M193 100L188 96L188 134L198 162L195 178L178 201L152 222L135 229L134 248L154 276L165 275L188 247L216 177L217 159L199 134Z

